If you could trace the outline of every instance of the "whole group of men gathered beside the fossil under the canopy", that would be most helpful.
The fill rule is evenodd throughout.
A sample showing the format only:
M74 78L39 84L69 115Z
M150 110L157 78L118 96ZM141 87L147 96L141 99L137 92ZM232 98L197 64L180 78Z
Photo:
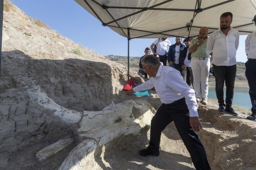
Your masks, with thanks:
M216 96L219 103L218 112L227 112L238 116L232 108L236 78L236 51L239 45L239 32L232 28L232 13L220 16L220 29L208 37L208 28L202 27L196 38L176 37L171 45L167 38L156 39L145 55L140 58L139 72L150 78L139 86L127 91L127 95L136 91L155 87L162 102L151 120L150 141L147 149L139 151L141 156L158 156L161 132L172 121L188 149L196 169L210 169L206 153L197 131L202 126L198 117L198 104L207 104L208 76L212 67L216 81ZM256 15L252 22L256 26ZM167 52L167 46L169 51ZM154 55L150 55L150 49ZM245 41L245 53L248 61L246 78L252 102L252 114L256 117L256 31L249 34ZM165 67L168 61L168 66ZM184 81L186 78L186 82ZM223 87L226 85L226 99ZM193 89L191 89L191 86Z

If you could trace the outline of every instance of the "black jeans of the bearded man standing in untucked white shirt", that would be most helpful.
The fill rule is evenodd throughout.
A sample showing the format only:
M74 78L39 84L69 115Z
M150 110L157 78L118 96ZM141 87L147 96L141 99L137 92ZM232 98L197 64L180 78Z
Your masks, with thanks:
M231 107L234 97L234 87L236 79L236 64L233 66L216 66L212 64L215 74L215 92L219 106L224 104L224 82L226 85L226 107Z

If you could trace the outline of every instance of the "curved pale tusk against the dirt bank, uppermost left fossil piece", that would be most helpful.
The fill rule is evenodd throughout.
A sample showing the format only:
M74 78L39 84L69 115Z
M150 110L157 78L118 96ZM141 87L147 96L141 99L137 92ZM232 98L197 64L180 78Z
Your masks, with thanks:
M39 86L33 86L27 90L28 96L37 104L44 108L56 110L55 116L58 116L66 123L77 123L80 121L82 113L75 110L69 110L61 107L49 98Z

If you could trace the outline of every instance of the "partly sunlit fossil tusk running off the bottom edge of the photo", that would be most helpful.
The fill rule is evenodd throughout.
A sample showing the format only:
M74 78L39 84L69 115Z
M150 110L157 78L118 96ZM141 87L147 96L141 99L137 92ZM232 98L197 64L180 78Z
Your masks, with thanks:
M84 168L84 161L87 159L88 154L97 148L97 144L94 140L85 139L79 143L62 162L59 170L76 170L86 169Z

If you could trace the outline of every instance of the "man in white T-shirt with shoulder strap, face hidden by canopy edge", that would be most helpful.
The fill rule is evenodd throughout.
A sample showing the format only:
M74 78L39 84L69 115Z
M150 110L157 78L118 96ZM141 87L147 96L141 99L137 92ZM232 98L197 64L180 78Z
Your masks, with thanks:
M157 46L156 51L154 50L154 46ZM157 38L150 46L153 54L157 53L159 55L159 60L166 66L167 61L167 46L171 46L171 42L167 40L167 38Z

